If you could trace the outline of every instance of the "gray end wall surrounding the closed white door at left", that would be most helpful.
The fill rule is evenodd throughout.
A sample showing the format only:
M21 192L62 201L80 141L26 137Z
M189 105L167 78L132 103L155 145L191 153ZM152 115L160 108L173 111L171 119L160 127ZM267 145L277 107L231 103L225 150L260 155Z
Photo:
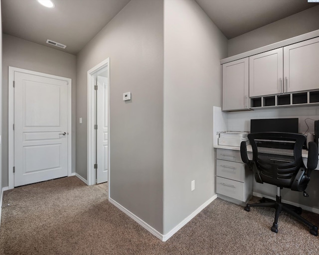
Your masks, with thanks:
M75 67L74 55L2 35L2 187L8 186L8 67L72 79L72 172L75 172Z

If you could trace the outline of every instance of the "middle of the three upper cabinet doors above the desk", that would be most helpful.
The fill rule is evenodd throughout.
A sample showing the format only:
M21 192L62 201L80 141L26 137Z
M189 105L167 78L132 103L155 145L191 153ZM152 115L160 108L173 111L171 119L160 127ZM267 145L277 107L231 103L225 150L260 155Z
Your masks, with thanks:
M249 57L249 97L282 93L283 48Z

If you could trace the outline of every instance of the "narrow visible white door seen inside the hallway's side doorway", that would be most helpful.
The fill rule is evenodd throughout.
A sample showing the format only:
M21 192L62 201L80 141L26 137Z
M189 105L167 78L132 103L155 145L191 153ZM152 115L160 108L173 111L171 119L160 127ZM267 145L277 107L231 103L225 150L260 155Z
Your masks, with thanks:
M108 78L97 76L96 117L97 139L96 183L108 181L109 141L108 141Z

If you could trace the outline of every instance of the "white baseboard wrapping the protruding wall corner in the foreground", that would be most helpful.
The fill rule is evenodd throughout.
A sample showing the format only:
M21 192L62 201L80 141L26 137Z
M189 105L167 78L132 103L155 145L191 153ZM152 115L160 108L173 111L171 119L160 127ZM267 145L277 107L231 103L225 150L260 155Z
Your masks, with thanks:
M112 198L109 198L110 203L115 205L117 208L119 208L122 212L130 216L133 220L135 220L138 224L140 224L143 228L145 228L147 231L149 231L151 234L159 238L161 241L165 242L170 237L172 237L178 230L180 230L183 226L185 226L191 219L193 219L199 212L201 212L207 205L209 205L212 201L214 201L217 198L217 195L214 195L210 199L208 199L205 203L203 203L201 206L199 206L193 213L191 213L189 216L187 216L183 221L181 221L176 227L174 227L171 231L169 231L166 235L160 234L156 229L154 229L152 226L147 224L145 221L137 217L135 214L127 210L125 207L120 205L118 202L113 200Z

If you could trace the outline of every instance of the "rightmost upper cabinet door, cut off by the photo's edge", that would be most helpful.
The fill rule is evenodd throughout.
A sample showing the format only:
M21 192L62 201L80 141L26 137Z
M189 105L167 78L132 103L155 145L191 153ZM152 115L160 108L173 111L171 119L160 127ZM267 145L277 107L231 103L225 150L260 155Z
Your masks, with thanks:
M319 37L284 47L285 92L319 89Z

